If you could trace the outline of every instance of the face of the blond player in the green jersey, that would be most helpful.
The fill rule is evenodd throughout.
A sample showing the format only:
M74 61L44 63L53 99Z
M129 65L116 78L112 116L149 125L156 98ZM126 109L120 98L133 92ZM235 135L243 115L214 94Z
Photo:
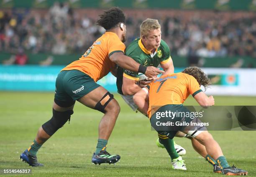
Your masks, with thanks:
M148 48L159 48L161 43L161 28L156 30L151 30L148 33L148 37L143 40L145 46Z

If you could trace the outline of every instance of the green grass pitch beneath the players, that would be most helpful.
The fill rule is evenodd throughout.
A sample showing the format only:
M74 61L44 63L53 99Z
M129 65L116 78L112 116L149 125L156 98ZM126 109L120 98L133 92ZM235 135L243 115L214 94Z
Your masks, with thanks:
M220 176L197 154L189 139L175 138L187 150L187 171L171 169L165 149L156 147L157 134L142 114L134 113L119 95L121 112L108 142L108 152L120 154L117 165L91 163L97 144L97 126L102 113L76 103L70 124L54 134L39 150L44 167L28 167L18 158L29 147L36 132L52 116L53 93L0 92L0 169L32 169L36 177L66 176ZM255 97L218 97L217 105L255 105ZM189 97L187 105L197 105ZM256 131L211 131L230 165L256 176ZM1 174L0 174L1 175ZM9 175L17 176L17 175Z

